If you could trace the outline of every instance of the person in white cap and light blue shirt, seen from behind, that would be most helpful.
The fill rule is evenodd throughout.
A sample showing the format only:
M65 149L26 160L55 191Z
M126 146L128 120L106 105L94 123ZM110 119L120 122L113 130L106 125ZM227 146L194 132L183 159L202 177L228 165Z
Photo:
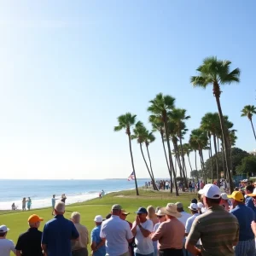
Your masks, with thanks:
M91 230L90 233L90 248L93 256L105 256L106 247L105 241L100 237L101 228L102 228L102 215L96 215L94 218L96 227Z

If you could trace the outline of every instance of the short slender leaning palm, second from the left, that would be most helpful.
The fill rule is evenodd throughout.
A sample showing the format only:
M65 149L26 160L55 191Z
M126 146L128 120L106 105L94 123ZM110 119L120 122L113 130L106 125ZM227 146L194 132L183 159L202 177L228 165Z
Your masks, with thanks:
M145 156L144 156L144 153L143 153L143 143L145 143L146 139L147 139L147 129L146 127L143 125L143 122L141 121L138 121L137 124L135 125L135 128L133 129L133 135L131 135L131 139L134 140L134 139L137 139L137 143L139 143L140 145L140 149L141 149L141 153L143 155L143 160L144 160L144 163L147 167L147 170L148 170L148 174L149 174L149 177L151 178L151 181L152 181L152 184L153 184L153 188L154 190L156 190L156 185L154 183L154 176L153 176L153 172L151 173L149 168L148 168L148 163L147 163L147 160L145 159Z

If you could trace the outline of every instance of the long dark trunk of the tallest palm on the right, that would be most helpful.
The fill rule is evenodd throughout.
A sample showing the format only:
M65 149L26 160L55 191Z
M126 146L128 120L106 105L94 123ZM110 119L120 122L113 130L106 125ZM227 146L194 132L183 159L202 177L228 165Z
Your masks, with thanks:
M216 84L215 84L216 86ZM214 84L213 84L214 87ZM218 86L219 88L219 86ZM223 137L223 143L224 143L224 157L225 157L225 164L226 164L226 171L228 173L228 177L229 177L229 182L230 182L230 192L232 193L234 190L234 184L233 184L233 179L232 179L232 175L230 172L230 148L229 148L229 143L228 143L228 132L227 132L227 128L224 124L224 117L223 117L223 113L222 113L222 109L220 106L220 101L219 101L219 96L215 96L216 102L217 102L217 107L218 107L218 115L219 115L219 121L220 121L220 126L221 126L221 131L222 131L222 137Z

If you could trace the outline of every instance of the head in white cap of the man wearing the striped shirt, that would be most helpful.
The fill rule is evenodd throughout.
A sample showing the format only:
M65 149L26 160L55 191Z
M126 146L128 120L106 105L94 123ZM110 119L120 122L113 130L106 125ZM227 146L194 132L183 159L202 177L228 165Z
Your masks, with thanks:
M207 184L203 189L198 191L203 196L203 203L207 208L218 206L221 201L221 192L218 186Z

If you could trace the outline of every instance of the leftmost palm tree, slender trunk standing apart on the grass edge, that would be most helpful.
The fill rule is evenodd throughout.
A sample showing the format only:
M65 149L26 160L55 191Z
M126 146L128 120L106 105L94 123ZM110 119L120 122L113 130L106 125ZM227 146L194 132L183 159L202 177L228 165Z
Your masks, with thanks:
M134 168L134 161L133 161L133 155L132 155L132 150L131 150L131 126L133 126L135 124L136 117L137 117L136 114L131 114L131 113L125 113L125 114L120 115L118 117L119 125L114 126L113 131L125 130L125 133L128 136L129 148L130 148L130 154L131 154L131 166L132 166L133 175L134 175L136 195L139 195L139 192L138 192L138 189L137 189L137 177L136 177L136 172L135 172L135 168Z

